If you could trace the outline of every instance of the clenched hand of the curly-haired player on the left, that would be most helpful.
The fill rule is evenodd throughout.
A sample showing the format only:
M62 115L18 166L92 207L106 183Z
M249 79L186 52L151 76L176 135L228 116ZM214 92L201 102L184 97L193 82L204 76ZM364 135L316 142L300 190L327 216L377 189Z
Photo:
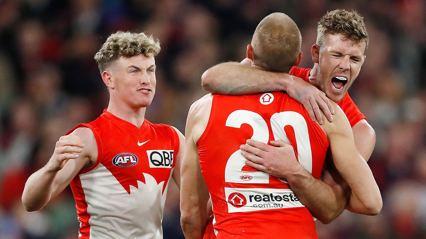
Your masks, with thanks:
M46 164L48 171L59 171L68 159L77 159L78 154L83 151L84 143L76 135L70 134L59 138L55 145L55 151Z

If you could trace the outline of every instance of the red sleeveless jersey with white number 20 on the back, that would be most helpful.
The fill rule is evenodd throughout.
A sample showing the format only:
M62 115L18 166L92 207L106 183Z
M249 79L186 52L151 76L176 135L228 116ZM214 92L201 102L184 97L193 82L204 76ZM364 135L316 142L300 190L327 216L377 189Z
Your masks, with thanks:
M216 238L317 238L311 213L285 180L245 165L239 145L250 138L291 142L299 162L320 177L328 139L300 103L282 92L214 95L198 147Z

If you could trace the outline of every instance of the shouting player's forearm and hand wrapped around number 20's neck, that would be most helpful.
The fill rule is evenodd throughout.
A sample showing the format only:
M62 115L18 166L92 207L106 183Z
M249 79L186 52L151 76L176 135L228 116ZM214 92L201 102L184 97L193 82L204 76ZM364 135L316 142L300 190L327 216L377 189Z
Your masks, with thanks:
M247 63L228 62L205 71L201 76L201 85L204 91L213 94L286 91L290 97L303 104L313 121L322 124L320 111L323 111L328 121L333 122L334 109L325 94L301 78L289 74L263 71Z

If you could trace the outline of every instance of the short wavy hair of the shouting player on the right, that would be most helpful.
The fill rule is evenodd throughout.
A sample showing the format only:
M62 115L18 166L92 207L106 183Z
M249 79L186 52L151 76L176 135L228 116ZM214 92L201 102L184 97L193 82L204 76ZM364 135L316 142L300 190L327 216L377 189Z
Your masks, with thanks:
M365 42L368 46L368 33L364 17L356 11L336 9L328 11L318 22L317 45L322 48L326 34L343 34L354 43Z

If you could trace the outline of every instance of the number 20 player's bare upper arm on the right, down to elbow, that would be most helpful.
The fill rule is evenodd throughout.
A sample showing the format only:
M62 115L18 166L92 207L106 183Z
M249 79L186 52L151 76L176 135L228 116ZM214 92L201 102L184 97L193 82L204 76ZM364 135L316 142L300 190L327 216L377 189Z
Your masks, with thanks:
M383 205L379 188L366 161L355 147L348 119L340 107L334 104L334 108L334 122L322 125L330 141L334 165L352 189L350 202L352 196L359 199L362 205L359 213L376 215Z

